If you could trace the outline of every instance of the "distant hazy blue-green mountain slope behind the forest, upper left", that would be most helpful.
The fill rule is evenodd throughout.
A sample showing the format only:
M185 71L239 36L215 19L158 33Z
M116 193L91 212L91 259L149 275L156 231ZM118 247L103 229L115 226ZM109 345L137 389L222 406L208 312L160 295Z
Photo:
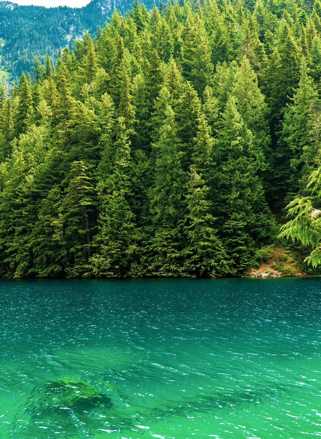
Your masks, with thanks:
M0 2L0 66L17 81L22 71L32 71L35 56L43 60L48 53L57 58L58 49L71 47L84 29L93 34L114 8L125 14L130 4L130 0L93 0L82 8L46 8ZM153 1L145 4L151 8ZM6 81L3 76L1 82Z

